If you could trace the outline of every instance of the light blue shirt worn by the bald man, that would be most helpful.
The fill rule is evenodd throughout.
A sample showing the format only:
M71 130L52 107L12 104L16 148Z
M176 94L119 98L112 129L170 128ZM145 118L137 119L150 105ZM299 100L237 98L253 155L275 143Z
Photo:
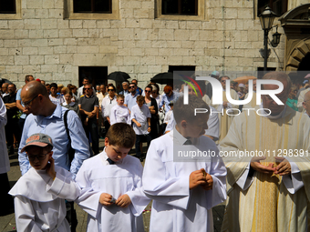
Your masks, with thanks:
M67 108L57 104L51 116L34 116L30 114L26 117L23 135L18 148L18 160L22 175L26 174L31 166L26 158L26 152L22 153L21 149L26 145L26 139L36 133L47 134L52 138L55 165L69 169L70 164L67 158L69 140L63 118L66 110ZM77 113L72 110L67 114L67 127L71 137L71 146L76 150L71 162L70 172L76 177L79 167L90 156L88 138L85 135L81 120Z

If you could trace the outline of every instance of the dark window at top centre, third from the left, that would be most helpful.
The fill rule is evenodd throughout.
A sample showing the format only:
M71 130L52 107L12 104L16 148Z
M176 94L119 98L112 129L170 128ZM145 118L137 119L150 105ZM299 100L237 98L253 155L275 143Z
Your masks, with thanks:
M198 0L161 1L161 15L198 15Z

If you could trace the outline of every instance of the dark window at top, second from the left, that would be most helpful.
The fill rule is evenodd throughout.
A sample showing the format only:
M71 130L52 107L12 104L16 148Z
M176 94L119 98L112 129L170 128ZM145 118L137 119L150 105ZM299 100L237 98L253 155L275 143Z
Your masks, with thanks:
M73 2L74 13L112 13L111 0L74 0Z

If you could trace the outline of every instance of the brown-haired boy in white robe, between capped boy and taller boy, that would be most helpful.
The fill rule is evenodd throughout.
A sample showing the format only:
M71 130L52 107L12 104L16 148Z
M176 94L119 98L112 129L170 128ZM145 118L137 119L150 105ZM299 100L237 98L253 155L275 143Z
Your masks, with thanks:
M109 127L103 152L79 169L76 180L82 193L76 202L88 212L89 232L144 231L138 219L150 199L141 187L139 159L127 156L134 143L132 127L116 123Z

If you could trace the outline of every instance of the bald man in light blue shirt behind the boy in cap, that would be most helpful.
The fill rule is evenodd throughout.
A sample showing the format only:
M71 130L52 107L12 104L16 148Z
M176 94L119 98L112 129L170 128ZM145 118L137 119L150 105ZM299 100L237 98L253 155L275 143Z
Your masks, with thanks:
M30 168L26 153L20 151L26 145L26 138L35 133L44 133L53 139L55 165L70 170L75 177L83 160L89 157L88 138L78 115L72 110L67 114L71 146L75 149L75 156L70 163L67 157L69 139L64 125L64 114L67 108L59 104L55 105L48 97L46 86L36 81L29 82L23 87L21 97L25 108L30 113L26 117L25 129L18 150L22 175L26 174Z

